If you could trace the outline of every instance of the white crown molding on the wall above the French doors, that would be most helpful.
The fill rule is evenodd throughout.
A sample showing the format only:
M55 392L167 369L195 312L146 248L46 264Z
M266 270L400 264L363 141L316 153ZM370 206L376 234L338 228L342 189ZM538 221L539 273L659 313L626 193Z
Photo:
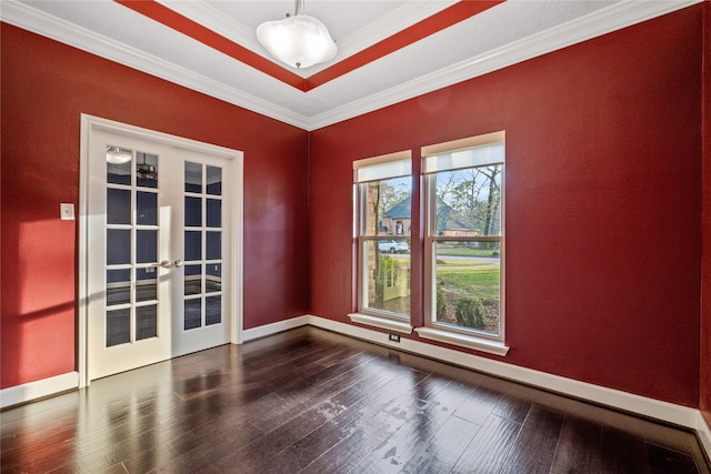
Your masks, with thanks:
M216 99L251 110L266 117L307 129L306 117L259 99L222 82L214 81L162 58L97 34L77 24L47 14L14 0L2 0L2 21L73 48L99 56L119 64L137 69L169 82L202 92Z

